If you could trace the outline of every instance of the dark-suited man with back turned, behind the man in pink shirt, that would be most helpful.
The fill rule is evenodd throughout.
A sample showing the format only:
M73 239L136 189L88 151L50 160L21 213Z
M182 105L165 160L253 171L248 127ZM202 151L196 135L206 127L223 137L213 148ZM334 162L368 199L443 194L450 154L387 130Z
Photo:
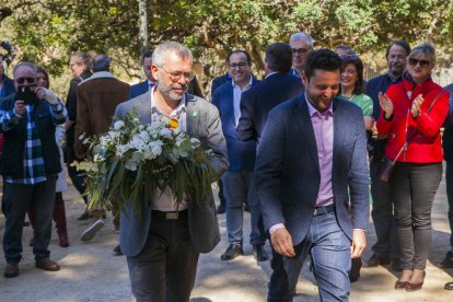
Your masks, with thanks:
M292 51L288 44L275 43L267 47L265 80L242 94L237 125L242 140L259 142L269 111L303 91L301 79L288 74L291 61Z

